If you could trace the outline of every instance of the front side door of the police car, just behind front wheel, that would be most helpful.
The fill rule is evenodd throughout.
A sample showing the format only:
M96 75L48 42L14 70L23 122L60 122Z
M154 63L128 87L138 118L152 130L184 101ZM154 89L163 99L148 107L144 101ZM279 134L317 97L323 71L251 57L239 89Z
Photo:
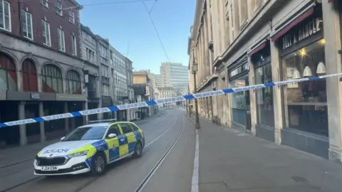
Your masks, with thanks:
M109 138L109 134L116 134L117 136ZM120 157L120 144L125 144L125 135L121 134L118 124L110 126L105 142L108 144L108 162L118 159Z

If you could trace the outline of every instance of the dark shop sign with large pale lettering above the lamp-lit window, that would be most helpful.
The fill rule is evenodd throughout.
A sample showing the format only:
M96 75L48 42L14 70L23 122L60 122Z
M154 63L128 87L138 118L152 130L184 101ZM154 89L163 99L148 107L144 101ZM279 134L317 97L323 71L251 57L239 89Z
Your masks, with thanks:
M306 38L313 36L314 34L321 32L320 19L312 18L307 23L304 23L295 30L291 31L288 35L283 37L283 50L291 46L296 45Z

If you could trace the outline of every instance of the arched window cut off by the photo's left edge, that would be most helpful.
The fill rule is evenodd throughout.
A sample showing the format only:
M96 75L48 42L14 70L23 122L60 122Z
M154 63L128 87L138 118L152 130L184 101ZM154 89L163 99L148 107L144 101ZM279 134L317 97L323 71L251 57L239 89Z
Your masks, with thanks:
M16 65L9 56L0 53L0 90L16 90Z

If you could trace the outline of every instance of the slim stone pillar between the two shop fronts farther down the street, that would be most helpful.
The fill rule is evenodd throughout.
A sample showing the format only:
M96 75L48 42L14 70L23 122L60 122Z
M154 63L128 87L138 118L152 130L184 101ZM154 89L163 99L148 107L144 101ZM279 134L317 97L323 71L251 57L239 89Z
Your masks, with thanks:
M255 85L255 76L254 76L254 65L251 61L251 58L248 57L248 66L249 66L249 85ZM257 97L255 90L249 91L250 98L250 110L251 110L251 132L254 136L257 135L257 129L255 125L257 124Z

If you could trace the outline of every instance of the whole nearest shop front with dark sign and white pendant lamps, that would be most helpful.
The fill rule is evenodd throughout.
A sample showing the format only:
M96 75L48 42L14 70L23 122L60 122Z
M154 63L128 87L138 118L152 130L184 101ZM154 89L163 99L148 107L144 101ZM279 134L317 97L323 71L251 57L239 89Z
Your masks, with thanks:
M308 9L301 21L276 40L282 80L326 74L321 6ZM284 129L281 143L328 158L326 79L282 86Z

